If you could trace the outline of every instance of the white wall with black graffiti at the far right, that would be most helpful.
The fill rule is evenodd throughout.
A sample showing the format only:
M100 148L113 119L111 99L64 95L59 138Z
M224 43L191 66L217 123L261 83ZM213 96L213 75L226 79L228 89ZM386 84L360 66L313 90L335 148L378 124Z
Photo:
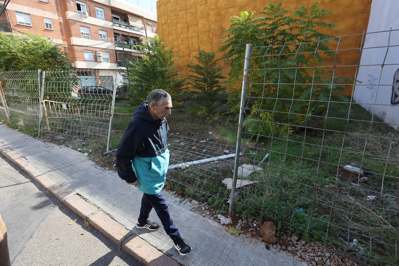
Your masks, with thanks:
M399 80L399 46L395 47L399 45L398 2L373 0L371 3L357 77L360 82L356 83L353 94L356 102L395 129L399 126L399 86L393 90L395 73Z

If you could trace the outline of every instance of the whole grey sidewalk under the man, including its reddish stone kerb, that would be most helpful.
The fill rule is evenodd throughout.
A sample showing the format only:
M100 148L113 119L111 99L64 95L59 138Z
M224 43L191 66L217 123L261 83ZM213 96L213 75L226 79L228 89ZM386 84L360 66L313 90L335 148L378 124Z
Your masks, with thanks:
M265 242L255 238L227 233L226 227L191 211L194 201L182 201L162 190L176 227L193 248L180 256L162 228L149 233L134 227L142 192L126 185L117 173L95 165L78 151L35 140L4 124L0 125L0 152L146 265L308 265L290 253L267 250ZM150 219L160 223L155 211Z

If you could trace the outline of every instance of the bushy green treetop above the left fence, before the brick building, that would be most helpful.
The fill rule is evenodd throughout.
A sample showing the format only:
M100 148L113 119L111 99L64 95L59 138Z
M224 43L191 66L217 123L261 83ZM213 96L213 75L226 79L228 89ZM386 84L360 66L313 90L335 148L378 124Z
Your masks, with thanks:
M0 33L0 71L71 70L60 45L53 45L44 36L25 33L24 35Z

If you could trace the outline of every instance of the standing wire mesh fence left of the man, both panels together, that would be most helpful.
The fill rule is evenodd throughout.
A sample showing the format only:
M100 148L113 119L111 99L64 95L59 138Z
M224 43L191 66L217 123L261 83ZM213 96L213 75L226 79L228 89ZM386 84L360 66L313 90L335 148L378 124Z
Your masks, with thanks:
M68 146L109 146L117 71L3 72L0 81L13 124Z

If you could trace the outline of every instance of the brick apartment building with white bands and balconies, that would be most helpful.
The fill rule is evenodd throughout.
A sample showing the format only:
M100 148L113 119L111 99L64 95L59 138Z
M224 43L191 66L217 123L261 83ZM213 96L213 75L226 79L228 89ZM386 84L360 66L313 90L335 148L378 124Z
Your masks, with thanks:
M0 0L0 6L5 2ZM79 70L79 87L109 89L115 71L118 84L126 81L123 61L142 57L134 45L158 35L156 14L125 0L10 0L0 16L0 31L40 34L62 44Z

